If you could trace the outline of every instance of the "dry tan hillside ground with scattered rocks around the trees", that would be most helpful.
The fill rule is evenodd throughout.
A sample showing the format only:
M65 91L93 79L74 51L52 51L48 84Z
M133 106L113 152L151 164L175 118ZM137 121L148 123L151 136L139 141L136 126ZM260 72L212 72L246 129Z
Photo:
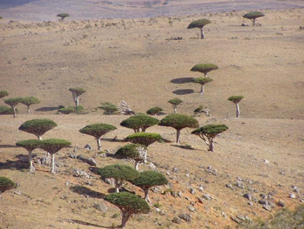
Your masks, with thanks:
M301 6L301 1L283 2ZM154 143L148 153L170 184L151 191L152 202L158 203L159 209L152 207L149 215L132 218L127 228L236 228L232 219L236 216L266 219L281 208L277 205L280 200L289 209L301 204L304 9L265 9L266 16L258 18L255 27L242 17L246 12L66 18L63 22L1 19L0 90L7 90L9 97L35 96L41 103L33 106L33 114L26 114L25 106L18 105L16 118L0 116L0 176L19 184L17 189L0 195L0 228L89 229L120 224L119 209L103 200L112 187L94 174L90 165L69 155L76 147L76 155L93 157L97 167L113 163L133 166L128 160L98 155L94 138L79 133L80 128L96 122L117 126L102 140L103 150L115 153L126 144L119 140L133 132L119 125L128 116L104 115L98 107L102 102L117 104L123 99L136 112L162 107L165 114L156 116L161 119L172 113L167 101L176 97L183 101L178 113L193 114L195 108L204 105L211 109L211 116L196 116L200 125L223 123L229 127L216 138L213 153L199 137L190 134L192 129L183 129L182 144L175 144L173 128L149 128L149 132L172 141ZM186 29L192 20L201 17L212 20L205 26L204 40L199 39L199 29ZM174 37L182 39L170 39ZM217 64L219 69L209 73L213 81L201 96L199 85L181 83L185 79L180 78L202 76L190 69L205 62ZM87 90L80 97L86 114L56 114L59 105L73 106L68 91L71 87ZM240 103L240 118L235 118L235 106L227 101L232 95L245 97ZM73 147L56 154L55 175L49 173L48 166L39 164L30 175L27 163L22 162L27 152L15 147L18 140L34 138L18 130L21 123L32 118L50 118L58 124L44 138L72 142ZM83 148L88 143L92 151ZM41 157L45 152L37 150L35 155ZM172 172L174 167L178 172ZM84 170L89 177L75 177L75 169ZM141 164L140 169L151 168ZM300 192L296 193L293 186ZM139 188L130 184L125 187L143 196ZM174 197L178 192L180 197ZM250 206L243 197L246 193L257 200L260 194L271 194L268 200L276 207L267 211L254 201ZM295 199L289 197L292 193ZM206 194L213 199L203 198ZM189 207L195 211L190 212ZM191 215L191 222L172 223L173 217L181 213Z

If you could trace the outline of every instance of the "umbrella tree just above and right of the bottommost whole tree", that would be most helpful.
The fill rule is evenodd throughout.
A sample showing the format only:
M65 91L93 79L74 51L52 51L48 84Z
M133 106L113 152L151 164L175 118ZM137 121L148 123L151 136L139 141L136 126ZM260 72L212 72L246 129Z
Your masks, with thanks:
M149 199L149 189L154 186L166 185L168 180L163 174L156 171L144 171L140 173L140 176L135 180L131 181L132 184L141 187L145 192L145 200L151 203Z

